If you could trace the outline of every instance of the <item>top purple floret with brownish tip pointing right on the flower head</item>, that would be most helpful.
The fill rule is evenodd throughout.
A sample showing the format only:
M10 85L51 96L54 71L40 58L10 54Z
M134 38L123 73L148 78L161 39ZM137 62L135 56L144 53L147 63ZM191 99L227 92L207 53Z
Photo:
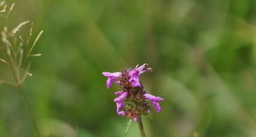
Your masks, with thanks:
M138 67L137 66L129 71L129 82L132 84L133 87L138 87L141 86L140 84L140 74L146 72L146 71L151 71L151 68L147 68L149 66L148 64L143 64L142 66Z

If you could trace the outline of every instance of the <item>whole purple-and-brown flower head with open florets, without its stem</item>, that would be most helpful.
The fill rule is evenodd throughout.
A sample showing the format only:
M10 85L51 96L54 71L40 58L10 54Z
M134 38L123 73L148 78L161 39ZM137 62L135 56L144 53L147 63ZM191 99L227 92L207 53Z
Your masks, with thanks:
M150 114L149 108L153 105L156 111L161 111L159 101L163 98L147 94L146 89L140 82L140 74L146 71L152 71L148 64L135 68L127 68L122 72L103 72L107 76L107 89L112 86L112 83L117 83L121 91L115 92L119 95L114 99L116 102L116 113L128 119L138 121L141 114ZM147 101L151 101L151 104Z

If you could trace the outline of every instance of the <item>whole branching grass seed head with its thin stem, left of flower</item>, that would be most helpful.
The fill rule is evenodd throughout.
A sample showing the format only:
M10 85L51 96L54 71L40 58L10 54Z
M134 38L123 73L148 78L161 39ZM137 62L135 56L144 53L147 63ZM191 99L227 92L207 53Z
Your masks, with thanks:
M29 105L28 99L26 98L26 94L22 89L22 84L27 76L32 76L32 74L29 73L29 67L31 65L29 57L37 57L41 55L32 54L32 49L34 49L38 39L43 33L43 30L41 30L41 32L38 34L37 38L35 38L32 44L30 43L30 40L33 31L33 23L31 23L31 29L29 30L28 38L23 39L22 36L17 36L17 32L19 32L19 30L25 24L30 23L30 21L23 21L22 23L18 24L17 27L14 27L14 29L9 30L8 16L13 10L14 5L15 4L12 4L9 8L8 5L5 4L5 1L0 0L0 17L4 18L5 20L5 26L1 31L0 61L5 65L9 66L11 73L14 77L14 81L0 79L0 84L16 86L19 89L20 95L24 99L28 108L29 117L31 118L32 123L35 126L38 136L40 136L40 132L32 115L32 110Z

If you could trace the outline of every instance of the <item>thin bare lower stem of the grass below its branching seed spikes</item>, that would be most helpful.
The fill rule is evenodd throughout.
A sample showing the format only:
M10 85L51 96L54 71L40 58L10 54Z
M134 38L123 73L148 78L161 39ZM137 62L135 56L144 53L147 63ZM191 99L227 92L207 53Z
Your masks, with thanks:
M35 130L37 131L37 135L39 137L41 137L40 132L39 132L38 127L37 127L37 124L35 123L35 119L32 115L32 110L31 110L31 107L29 105L28 99L26 98L26 94L23 91L22 86L18 85L18 88L20 89L20 93L22 94L22 98L25 100L26 107L28 108L29 117L31 118L32 123L34 124Z

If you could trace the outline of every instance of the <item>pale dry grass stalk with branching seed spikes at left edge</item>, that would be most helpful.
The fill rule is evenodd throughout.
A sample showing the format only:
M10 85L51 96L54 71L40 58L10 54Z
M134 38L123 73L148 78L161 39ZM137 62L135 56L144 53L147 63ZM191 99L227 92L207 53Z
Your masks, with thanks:
M1 0L0 0L1 2ZM5 1L2 1L0 3L0 7L2 5L4 5ZM24 80L26 79L26 76L32 76L31 73L29 73L29 67L30 67L30 62L26 63L26 59L28 57L37 57L40 56L41 54L32 54L30 55L30 53L32 52L32 49L35 47L38 39L40 38L41 34L43 33L43 30L39 33L39 35L37 36L37 38L35 39L33 45L31 46L31 48L28 51L28 44L29 44L29 39L31 38L32 35L32 27L33 27L33 23L31 24L31 29L29 31L29 37L26 41L27 43L27 47L26 47L26 51L23 52L23 43L25 43L25 41L22 39L22 37L20 36L20 40L22 42L19 43L19 45L17 45L17 32L19 32L19 30L25 25L28 24L30 21L23 21L22 23L20 23L17 27L15 27L14 29L12 29L10 32L8 32L8 16L10 15L11 11L13 10L14 7L14 3L11 5L11 7L8 9L7 11L7 5L4 6L4 10L0 11L0 13L5 13L5 14L0 14L1 17L5 18L5 27L1 32L1 41L4 43L3 48L6 50L6 55L7 58L6 59L2 59L0 58L0 61L4 64L7 64L8 66L10 66L11 71L13 73L14 79L16 82L9 82L7 80L0 80L0 84L2 83L6 83L8 85L12 85L12 86L17 86L19 88L20 94L22 96L22 98L25 101L26 107L28 109L28 113L29 113L29 118L32 120L32 123L34 124L35 130L37 131L37 135L41 137L40 132L38 130L37 124L35 123L35 119L33 117L32 114L32 109L29 105L28 99L26 98L26 94L22 89L22 83L24 82ZM9 39L13 38L13 43L11 43L11 41L9 41ZM26 56L24 55L26 54ZM23 58L25 56L25 61L23 61ZM27 64L26 69L23 69L23 66L25 66Z

